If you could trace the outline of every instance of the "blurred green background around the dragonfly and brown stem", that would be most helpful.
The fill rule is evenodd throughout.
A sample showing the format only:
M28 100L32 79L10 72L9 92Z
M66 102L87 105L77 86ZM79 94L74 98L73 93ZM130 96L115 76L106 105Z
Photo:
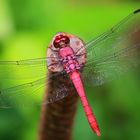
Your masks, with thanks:
M43 57L60 31L89 41L137 8L138 0L0 0L0 59ZM93 91L87 89L101 140L140 139L138 71ZM37 139L39 119L40 108L0 109L0 140ZM77 139L98 139L80 102L73 130L73 140Z

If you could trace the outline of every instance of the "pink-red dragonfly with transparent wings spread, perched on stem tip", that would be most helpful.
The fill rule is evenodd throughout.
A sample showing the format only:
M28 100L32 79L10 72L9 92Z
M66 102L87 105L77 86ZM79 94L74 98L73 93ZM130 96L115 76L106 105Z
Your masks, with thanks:
M10 77L11 71L20 78L30 80L25 84L1 89L0 107L48 104L61 100L69 95L69 88L65 83L59 85L46 100L42 100L41 91L52 78L68 76L80 97L92 130L100 136L98 123L86 98L84 86L103 85L139 64L140 9L87 43L75 35L60 32L51 40L46 57L0 61L2 83ZM46 78L47 70L53 75ZM6 77L5 73L8 73Z

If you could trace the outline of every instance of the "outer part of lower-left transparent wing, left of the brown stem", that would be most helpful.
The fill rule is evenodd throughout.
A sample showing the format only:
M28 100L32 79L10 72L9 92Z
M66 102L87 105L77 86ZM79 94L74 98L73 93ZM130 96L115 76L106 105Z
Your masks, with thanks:
M44 88L45 78L3 89L0 91L0 107L9 108L33 105L35 102L41 101Z

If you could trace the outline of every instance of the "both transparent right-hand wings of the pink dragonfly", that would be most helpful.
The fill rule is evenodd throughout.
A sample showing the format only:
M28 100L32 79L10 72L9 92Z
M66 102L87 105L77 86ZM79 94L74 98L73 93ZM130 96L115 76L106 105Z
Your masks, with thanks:
M140 9L87 43L82 78L93 86L121 76L140 64ZM77 52L80 54L82 48ZM88 82L86 82L88 81Z

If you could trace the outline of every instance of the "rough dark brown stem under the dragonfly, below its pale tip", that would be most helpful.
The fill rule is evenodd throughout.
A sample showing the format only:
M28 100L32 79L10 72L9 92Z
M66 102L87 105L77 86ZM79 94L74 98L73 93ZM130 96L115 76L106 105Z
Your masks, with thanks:
M49 73L52 76L53 73ZM68 77L55 76L47 85L46 98L64 84L70 95L42 106L39 140L71 140L78 96Z

